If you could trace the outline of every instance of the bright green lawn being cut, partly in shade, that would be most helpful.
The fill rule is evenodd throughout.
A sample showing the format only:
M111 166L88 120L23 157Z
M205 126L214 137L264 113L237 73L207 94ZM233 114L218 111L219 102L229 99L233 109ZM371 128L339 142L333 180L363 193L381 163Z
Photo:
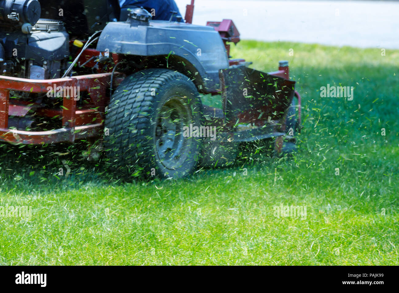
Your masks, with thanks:
M231 55L262 71L290 62L295 157L244 151L228 169L120 183L79 156L59 176L56 150L3 146L0 206L32 219L0 217L0 264L398 265L399 50L241 41ZM327 84L354 99L321 98ZM306 219L274 216L281 203Z

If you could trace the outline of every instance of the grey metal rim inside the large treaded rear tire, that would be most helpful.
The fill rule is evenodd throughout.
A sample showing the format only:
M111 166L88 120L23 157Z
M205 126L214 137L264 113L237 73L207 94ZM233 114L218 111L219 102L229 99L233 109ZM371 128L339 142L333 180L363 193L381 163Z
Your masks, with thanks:
M176 170L188 158L192 138L183 136L184 126L192 121L192 112L182 98L174 96L160 109L155 130L158 161L167 169Z

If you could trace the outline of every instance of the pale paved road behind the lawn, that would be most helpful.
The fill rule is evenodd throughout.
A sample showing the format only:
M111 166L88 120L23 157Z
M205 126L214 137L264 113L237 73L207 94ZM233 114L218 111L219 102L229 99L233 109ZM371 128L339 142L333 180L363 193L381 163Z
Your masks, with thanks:
M223 18L242 39L399 49L399 2L196 0L194 24Z

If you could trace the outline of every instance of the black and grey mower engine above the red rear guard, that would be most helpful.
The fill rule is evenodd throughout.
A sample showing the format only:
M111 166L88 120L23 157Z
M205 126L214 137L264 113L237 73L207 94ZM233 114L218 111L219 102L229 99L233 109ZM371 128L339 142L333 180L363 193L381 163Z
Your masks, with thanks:
M69 36L62 22L41 19L38 0L0 1L0 70L28 79L61 76L69 57Z

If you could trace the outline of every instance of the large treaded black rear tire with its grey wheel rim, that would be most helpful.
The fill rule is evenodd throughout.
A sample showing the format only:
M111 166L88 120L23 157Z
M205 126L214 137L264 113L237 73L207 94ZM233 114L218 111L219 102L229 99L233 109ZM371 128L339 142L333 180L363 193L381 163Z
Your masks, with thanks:
M201 138L182 127L201 125L201 102L192 81L168 69L146 69L126 77L106 113L105 154L122 176L180 178L194 171Z

